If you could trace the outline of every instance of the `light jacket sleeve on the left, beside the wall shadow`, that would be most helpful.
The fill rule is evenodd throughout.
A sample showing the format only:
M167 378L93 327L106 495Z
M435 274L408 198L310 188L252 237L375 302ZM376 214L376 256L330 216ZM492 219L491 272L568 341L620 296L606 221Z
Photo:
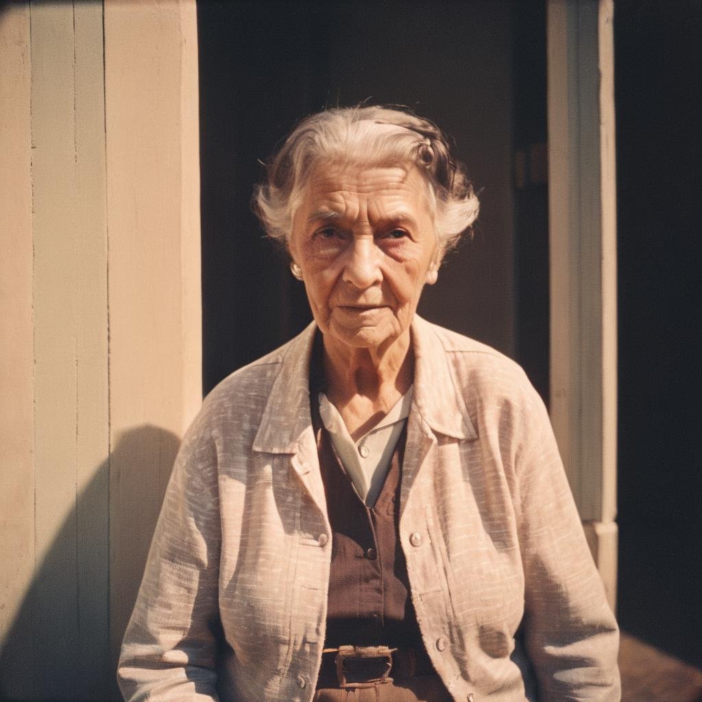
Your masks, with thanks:
M213 702L220 516L202 415L180 447L117 668L126 702Z

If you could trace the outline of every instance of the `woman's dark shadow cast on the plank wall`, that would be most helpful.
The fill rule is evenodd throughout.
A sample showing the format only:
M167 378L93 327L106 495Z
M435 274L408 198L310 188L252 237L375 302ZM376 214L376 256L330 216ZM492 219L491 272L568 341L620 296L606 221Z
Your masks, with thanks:
M131 429L95 470L37 564L4 636L0 700L121 700L110 640L119 642L124 634L179 445L180 439L164 429ZM114 506L110 509L111 482L120 504L129 505L117 515ZM113 610L115 602L125 604L111 611L110 602Z

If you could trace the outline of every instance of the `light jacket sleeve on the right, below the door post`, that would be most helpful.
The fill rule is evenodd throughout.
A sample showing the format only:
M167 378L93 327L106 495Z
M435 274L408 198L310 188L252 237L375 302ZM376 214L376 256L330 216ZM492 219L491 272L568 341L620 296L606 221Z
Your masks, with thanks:
M529 386L517 453L524 642L539 702L618 702L618 628L590 555L548 413Z

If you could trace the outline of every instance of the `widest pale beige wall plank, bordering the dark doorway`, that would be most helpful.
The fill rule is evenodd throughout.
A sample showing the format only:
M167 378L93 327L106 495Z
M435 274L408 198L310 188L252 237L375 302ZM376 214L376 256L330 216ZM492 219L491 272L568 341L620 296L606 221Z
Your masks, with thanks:
M194 13L192 1L105 3L113 661L201 402Z

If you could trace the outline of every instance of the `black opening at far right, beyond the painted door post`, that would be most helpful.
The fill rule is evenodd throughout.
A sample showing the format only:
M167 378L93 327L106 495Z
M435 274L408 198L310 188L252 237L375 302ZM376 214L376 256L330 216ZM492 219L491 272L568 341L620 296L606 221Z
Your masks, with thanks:
M618 2L619 597L702 667L702 5Z

